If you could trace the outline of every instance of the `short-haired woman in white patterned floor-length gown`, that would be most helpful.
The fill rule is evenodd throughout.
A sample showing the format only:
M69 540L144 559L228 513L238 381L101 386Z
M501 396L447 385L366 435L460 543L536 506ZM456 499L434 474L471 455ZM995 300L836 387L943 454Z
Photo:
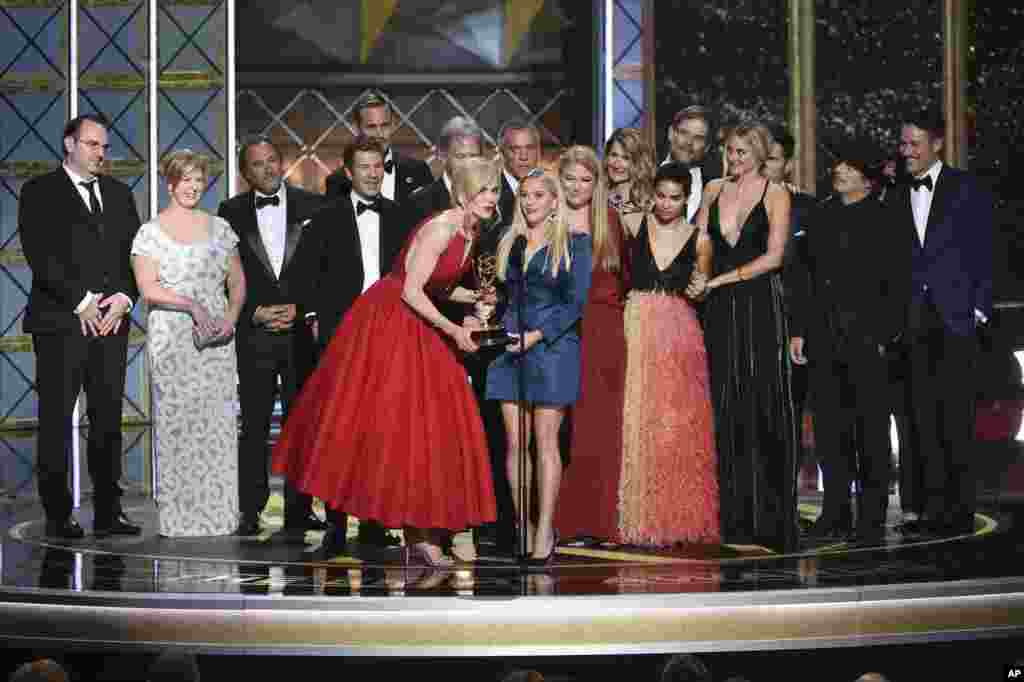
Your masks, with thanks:
M205 157L174 152L161 172L170 203L132 244L135 281L150 307L160 535L230 535L239 524L233 336L246 296L239 239L199 208Z

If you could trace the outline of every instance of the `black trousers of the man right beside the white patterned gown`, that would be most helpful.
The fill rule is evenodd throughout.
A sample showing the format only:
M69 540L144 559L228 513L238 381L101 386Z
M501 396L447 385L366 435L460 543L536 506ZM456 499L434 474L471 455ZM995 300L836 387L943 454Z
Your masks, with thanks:
M301 324L298 322L297 324ZM290 334L251 331L236 341L239 354L239 394L242 435L239 440L239 508L255 517L270 497L267 440L278 380L285 418L302 382L312 369L312 342L305 330ZM312 511L312 498L285 482L285 525L303 524Z

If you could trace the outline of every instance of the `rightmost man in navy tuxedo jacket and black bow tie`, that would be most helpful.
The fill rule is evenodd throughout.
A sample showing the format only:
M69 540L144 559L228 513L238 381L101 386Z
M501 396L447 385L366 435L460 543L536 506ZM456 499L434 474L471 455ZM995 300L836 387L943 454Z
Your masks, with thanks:
M941 116L904 120L899 152L910 178L887 200L894 229L911 242L904 340L924 475L920 525L958 535L974 530L974 375L977 328L992 314L994 202L973 175L942 163L944 140Z

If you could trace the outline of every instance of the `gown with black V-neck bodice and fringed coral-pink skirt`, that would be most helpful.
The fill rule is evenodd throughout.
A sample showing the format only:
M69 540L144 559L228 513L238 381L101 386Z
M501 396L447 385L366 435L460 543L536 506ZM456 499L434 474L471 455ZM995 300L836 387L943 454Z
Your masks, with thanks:
M684 296L696 264L696 235L664 270L646 219L631 243L618 486L618 528L627 543L719 542L708 358L696 311Z

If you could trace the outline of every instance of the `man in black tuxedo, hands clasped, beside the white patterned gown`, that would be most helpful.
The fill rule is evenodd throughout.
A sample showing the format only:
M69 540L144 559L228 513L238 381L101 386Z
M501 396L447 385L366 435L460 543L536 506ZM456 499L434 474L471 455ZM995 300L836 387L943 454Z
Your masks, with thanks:
M259 514L270 494L267 438L278 381L287 417L313 367L306 313L314 290L311 264L319 249L306 228L326 202L283 182L281 155L266 137L241 145L239 168L252 188L222 202L217 213L239 235L246 275L246 303L236 332L242 407L238 535L251 536L259 532ZM286 534L301 537L326 527L312 513L310 497L286 483Z

